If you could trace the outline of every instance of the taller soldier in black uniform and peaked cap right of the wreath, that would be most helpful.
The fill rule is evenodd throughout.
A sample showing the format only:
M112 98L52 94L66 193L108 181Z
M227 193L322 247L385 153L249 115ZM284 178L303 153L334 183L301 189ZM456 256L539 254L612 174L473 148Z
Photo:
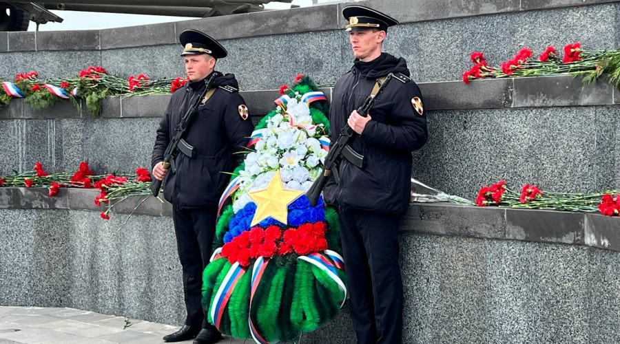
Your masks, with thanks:
M428 136L422 94L404 58L382 52L387 28L398 21L363 6L348 6L342 14L355 61L333 90L331 142L348 124L358 133L351 147L364 155L364 166L343 160L338 186L331 182L324 195L340 210L358 343L402 343L397 230L411 197L411 151ZM390 73L395 79L378 94L369 116L360 116L355 109Z

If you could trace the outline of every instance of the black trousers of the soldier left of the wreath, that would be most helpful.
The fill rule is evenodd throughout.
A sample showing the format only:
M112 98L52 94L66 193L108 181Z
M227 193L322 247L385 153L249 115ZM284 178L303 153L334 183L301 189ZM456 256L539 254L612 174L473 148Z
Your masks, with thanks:
M187 309L185 325L215 328L205 320L200 299L203 270L211 258L217 212L216 207L193 210L179 210L174 207L172 212L178 258L183 266L183 292Z

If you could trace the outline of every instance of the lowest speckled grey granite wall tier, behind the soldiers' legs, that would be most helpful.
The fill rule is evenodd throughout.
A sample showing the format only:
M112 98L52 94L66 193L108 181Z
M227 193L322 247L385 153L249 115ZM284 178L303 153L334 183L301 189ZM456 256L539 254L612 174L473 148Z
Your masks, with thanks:
M463 211L470 216L459 215ZM537 229L547 243L494 239L519 223L502 224L496 211L412 206L400 234L404 343L620 341L615 273L620 253L561 244L562 228L575 226L572 214L515 213L522 229ZM536 222L538 215L553 217L552 224L524 224ZM568 218L562 220L563 215ZM133 215L118 231L126 219L114 213L103 221L96 211L72 209L0 211L0 304L182 323L181 272L170 217ZM464 226L469 233L450 233ZM444 235L437 235L442 230ZM550 239L553 231L556 239ZM619 235L609 239L618 249ZM303 338L304 343L353 341L348 303L338 319Z

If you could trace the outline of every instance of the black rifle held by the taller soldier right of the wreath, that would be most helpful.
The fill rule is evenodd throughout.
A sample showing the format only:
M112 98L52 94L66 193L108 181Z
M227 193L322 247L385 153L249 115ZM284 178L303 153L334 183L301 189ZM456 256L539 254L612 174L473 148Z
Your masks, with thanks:
M383 92L393 77L394 74L388 74L385 80L381 83L379 89L376 92L373 91L371 95L364 100L364 104L362 104L362 106L358 109L358 114L360 114L360 116L368 116L368 112L375 104L376 97ZM377 83L379 84L380 80L377 80ZM338 170L334 169L334 167L337 166L341 158L349 160L349 162L360 167L360 169L364 166L364 155L360 155L359 153L353 151L351 146L349 146L349 142L355 138L355 135L357 135L355 131L353 131L349 125L345 124L344 127L342 127L342 131L340 131L338 140L336 140L336 142L329 148L329 153L327 153L323 164L323 173L319 175L319 177L313 182L312 186L310 186L310 189L306 192L306 196L312 206L316 206L316 202L318 202L318 198L325 187L327 178L331 175L332 169L334 171L334 177L337 177Z

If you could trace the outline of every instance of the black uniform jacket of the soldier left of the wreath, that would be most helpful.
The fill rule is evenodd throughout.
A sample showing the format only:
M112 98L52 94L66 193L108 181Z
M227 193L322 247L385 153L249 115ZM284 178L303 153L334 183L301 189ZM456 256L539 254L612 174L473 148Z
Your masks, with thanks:
M189 131L183 136L187 143L194 146L195 156L189 158L178 153L176 173L168 169L163 182L165 199L179 208L218 204L230 180L230 175L222 172L231 172L236 164L242 162L242 154L233 153L245 150L254 129L249 116L244 116L245 119L241 116L247 108L237 92L238 83L234 74L214 73L217 73L213 84L217 87L216 91L200 107ZM174 136L176 125L194 99L202 94L206 87L205 80L189 83L172 94L157 129L152 166L163 161L164 151Z

